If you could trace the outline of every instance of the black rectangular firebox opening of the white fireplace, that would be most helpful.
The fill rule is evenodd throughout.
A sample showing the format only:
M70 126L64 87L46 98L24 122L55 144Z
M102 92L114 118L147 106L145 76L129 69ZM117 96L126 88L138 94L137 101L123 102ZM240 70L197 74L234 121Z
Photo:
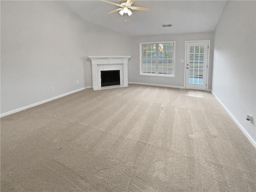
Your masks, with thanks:
M120 70L100 71L101 86L120 85Z

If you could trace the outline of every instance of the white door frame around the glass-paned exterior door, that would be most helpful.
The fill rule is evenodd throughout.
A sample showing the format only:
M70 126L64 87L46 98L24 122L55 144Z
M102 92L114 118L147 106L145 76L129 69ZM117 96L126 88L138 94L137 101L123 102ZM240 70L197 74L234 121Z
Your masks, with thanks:
M186 89L186 62L187 62L187 43L194 42L208 42L208 58L207 58L207 73L206 73L206 91L208 90L208 81L209 81L209 68L210 68L210 48L211 48L211 40L198 40L198 41L185 41L185 59L184 59L184 88Z

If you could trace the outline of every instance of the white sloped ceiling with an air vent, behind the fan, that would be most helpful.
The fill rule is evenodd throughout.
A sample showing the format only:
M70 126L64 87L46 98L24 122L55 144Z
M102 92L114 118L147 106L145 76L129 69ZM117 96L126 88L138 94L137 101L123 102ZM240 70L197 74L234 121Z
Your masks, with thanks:
M120 1L112 2L119 4ZM118 12L107 14L119 7L99 0L65 3L84 20L129 36L210 32L226 5L226 1L220 0L138 0L132 6L149 7L151 10L132 10L133 17L129 17ZM162 24L172 24L172 27L163 28Z

